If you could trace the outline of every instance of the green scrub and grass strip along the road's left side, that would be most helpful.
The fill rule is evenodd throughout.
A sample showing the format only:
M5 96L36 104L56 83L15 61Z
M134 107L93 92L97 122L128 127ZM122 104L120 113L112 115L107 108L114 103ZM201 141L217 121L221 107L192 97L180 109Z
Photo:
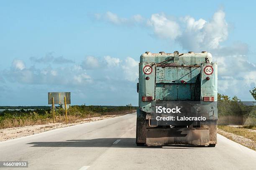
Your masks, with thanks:
M27 107L34 109L33 107ZM132 107L136 110L136 107ZM102 115L120 115L130 111L130 106L86 106L74 105L67 109L69 122L76 122L88 117ZM65 122L65 110L62 107L57 107L55 110L56 122ZM19 127L26 125L47 124L53 122L53 112L48 107L47 109L36 110L4 110L0 114L0 129Z

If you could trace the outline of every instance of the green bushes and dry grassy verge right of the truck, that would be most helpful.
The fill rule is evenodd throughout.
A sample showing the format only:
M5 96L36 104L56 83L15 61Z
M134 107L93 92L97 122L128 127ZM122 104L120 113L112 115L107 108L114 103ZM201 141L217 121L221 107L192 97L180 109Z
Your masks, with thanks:
M256 88L250 90L251 95L256 100ZM226 126L229 124L242 126ZM225 125L225 126L223 126ZM248 148L256 150L256 105L254 102L242 102L238 97L232 98L227 95L218 94L218 131L220 135L234 140ZM228 133L227 133L228 132ZM232 134L243 136L253 140L243 141L235 138Z

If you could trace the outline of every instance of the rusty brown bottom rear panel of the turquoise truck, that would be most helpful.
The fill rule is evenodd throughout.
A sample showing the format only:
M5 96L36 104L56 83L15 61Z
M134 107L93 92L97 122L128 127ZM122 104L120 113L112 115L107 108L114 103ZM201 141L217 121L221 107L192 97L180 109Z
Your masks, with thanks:
M209 145L209 128L147 128L146 145Z

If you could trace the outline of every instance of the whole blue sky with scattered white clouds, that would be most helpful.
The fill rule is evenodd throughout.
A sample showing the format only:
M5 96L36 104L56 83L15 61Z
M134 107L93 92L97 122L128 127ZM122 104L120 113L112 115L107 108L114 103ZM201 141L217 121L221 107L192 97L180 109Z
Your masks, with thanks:
M0 0L0 105L138 105L145 51L208 51L218 92L252 101L256 2Z

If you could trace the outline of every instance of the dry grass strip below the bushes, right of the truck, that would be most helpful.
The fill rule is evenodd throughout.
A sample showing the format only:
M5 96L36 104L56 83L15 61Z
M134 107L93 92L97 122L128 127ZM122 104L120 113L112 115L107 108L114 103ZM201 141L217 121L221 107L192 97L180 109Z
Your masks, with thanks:
M228 133L243 136L256 142L256 132L247 130L246 128L236 128L231 126L218 126L219 129L224 130ZM254 127L255 128L255 127Z

